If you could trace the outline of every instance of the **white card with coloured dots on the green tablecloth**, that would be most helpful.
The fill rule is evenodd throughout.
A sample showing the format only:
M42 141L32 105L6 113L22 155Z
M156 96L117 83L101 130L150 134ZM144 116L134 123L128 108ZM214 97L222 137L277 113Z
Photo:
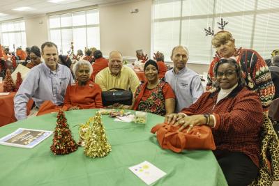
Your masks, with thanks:
M156 180L159 180L167 174L147 161L130 166L129 169L147 185L156 182Z

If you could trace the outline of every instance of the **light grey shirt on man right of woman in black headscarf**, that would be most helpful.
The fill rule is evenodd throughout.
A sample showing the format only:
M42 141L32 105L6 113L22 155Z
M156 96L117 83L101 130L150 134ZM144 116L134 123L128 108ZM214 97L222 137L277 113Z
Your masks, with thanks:
M183 68L175 74L174 69L167 71L165 82L172 86L176 96L176 113L189 107L199 98L204 89L199 75L190 68Z

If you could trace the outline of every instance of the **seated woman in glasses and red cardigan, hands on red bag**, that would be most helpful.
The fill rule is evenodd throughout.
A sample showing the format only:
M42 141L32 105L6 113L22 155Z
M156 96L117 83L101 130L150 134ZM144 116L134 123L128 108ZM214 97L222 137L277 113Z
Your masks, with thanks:
M220 59L214 68L218 90L206 92L179 114L169 114L165 122L212 127L216 150L213 151L228 185L248 185L259 172L259 131L263 109L257 93L243 86L239 64Z

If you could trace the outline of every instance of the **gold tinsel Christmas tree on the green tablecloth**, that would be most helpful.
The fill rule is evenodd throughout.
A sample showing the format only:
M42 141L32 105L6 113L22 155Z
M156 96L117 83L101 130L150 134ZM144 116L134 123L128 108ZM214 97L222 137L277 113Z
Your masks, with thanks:
M112 151L112 146L107 141L105 127L99 113L93 117L92 123L89 128L88 138L85 141L84 155L93 158L104 157Z

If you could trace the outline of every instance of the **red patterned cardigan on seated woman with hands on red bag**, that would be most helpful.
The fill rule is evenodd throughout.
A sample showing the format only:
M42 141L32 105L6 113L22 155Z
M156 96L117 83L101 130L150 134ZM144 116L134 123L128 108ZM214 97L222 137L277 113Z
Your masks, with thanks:
M262 104L257 93L238 86L215 105L218 92L203 93L183 113L214 114L212 129L216 150L245 153L259 167L259 130L263 123Z

